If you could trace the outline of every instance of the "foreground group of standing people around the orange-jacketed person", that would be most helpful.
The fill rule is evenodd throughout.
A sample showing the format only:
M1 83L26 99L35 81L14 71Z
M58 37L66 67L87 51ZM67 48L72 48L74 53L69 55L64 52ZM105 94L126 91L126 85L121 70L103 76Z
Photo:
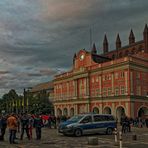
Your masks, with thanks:
M35 128L36 139L41 139L41 128L44 126L43 120L39 114L30 115L23 113L21 115L9 114L0 115L0 141L4 140L6 128L9 129L9 143L15 144L16 133L20 133L20 140L23 140L24 132L26 132L28 140L32 139L32 129Z

